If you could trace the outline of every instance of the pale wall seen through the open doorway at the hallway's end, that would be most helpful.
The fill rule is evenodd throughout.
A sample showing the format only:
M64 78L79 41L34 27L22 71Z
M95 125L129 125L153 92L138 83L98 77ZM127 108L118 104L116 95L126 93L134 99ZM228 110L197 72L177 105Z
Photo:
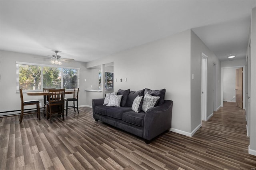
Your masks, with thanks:
M236 96L236 69L223 69L223 101L236 102L236 99L233 99Z

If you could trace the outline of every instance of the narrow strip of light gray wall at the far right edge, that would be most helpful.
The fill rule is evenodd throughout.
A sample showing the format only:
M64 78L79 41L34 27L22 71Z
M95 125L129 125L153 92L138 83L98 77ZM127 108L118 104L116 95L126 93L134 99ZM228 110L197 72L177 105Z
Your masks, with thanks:
M250 150L256 155L256 8L252 9L251 16L251 91L250 91Z

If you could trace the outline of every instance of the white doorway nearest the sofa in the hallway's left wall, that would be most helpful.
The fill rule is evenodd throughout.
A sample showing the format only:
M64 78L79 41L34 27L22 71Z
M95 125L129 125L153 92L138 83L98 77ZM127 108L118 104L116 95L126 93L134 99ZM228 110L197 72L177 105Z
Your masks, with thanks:
M201 117L207 121L207 56L201 54Z

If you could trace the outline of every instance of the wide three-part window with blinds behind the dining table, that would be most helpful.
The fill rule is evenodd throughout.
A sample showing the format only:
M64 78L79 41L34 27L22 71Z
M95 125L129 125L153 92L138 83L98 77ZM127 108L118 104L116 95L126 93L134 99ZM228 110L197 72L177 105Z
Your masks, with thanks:
M52 67L16 62L16 92L42 91L43 88L74 89L79 87L79 68Z

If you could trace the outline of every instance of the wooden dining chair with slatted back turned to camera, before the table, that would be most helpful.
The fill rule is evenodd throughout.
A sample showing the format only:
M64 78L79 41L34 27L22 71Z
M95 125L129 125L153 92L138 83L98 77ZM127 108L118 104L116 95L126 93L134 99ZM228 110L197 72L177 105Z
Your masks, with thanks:
M52 115L58 114L62 115L63 121L64 119L64 97L65 97L65 89L49 89L48 90L48 101L47 104L47 115L46 119L49 119L52 123Z

